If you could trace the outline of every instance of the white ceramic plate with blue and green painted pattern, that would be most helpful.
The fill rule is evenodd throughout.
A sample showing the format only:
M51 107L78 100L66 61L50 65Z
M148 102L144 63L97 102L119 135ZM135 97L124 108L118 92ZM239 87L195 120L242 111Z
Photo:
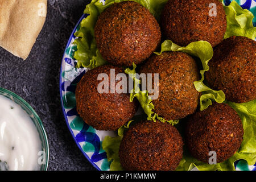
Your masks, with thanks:
M237 1L243 8L250 9L255 12L255 0ZM225 1L229 5L230 1ZM79 29L79 24L82 19L86 18L87 14L81 16L79 22L76 24L63 55L61 69L60 69L60 97L61 106L63 109L65 121L67 122L68 129L74 138L77 146L84 154L85 158L89 160L92 165L98 170L109 170L109 162L106 159L106 152L102 150L102 140L105 136L109 135L114 137L114 131L98 131L93 127L87 125L79 117L76 111L76 98L75 90L76 84L80 81L82 76L88 71L87 68L76 68L76 60L73 58L76 46L73 46L75 40L74 33ZM254 14L255 16L255 14ZM255 19L254 19L255 20ZM256 23L254 22L254 26ZM235 163L237 170L256 170L256 165L248 166L242 160Z

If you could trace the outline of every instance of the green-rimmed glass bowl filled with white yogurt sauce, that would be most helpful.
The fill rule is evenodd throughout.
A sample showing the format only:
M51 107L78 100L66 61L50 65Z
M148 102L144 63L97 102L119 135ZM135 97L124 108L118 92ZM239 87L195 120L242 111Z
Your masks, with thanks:
M46 171L48 161L48 139L38 114L0 88L0 171Z

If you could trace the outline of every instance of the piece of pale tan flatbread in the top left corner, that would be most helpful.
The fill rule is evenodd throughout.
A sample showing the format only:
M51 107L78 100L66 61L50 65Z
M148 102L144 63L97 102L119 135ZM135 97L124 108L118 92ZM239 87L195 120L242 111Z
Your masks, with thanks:
M46 14L47 0L0 0L0 46L27 59Z

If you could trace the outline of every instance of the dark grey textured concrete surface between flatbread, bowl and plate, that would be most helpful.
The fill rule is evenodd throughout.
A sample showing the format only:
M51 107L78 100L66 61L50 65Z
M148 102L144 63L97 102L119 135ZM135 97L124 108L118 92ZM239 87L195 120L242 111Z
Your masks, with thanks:
M46 23L26 61L0 48L0 87L24 98L49 140L48 170L96 170L76 146L60 105L59 74L68 38L89 0L48 0Z

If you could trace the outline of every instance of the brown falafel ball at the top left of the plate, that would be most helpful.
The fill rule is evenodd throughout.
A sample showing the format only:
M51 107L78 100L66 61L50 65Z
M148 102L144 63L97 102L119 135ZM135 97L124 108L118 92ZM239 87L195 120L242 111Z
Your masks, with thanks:
M160 44L155 17L134 1L114 3L99 16L94 28L102 57L114 65L140 64Z

